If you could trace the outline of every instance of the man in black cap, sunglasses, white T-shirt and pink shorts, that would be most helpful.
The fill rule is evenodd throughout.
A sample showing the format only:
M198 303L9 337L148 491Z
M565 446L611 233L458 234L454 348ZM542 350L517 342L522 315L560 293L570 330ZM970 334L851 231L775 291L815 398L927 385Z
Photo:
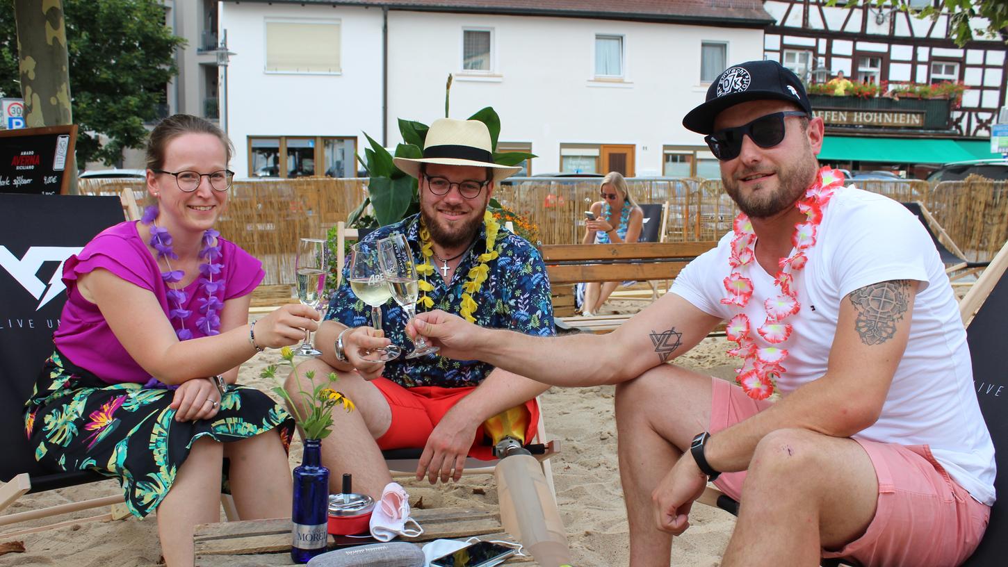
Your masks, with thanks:
M902 205L818 167L810 111L775 61L721 74L683 125L742 215L612 334L535 339L438 312L410 325L447 356L618 385L631 565L668 565L708 480L742 505L726 566L957 565L986 529L994 448L943 266ZM719 321L738 386L663 364Z

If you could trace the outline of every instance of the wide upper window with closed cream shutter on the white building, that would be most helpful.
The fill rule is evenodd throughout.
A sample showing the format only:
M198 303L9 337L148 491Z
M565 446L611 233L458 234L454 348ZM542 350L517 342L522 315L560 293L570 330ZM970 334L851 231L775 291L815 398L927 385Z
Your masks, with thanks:
M267 20L265 72L341 73L339 20Z

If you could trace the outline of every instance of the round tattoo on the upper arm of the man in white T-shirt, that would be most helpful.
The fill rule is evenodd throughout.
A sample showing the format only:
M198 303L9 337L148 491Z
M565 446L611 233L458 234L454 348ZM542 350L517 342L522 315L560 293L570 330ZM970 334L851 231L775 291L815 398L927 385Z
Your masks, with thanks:
M896 323L903 320L909 306L909 280L892 280L867 285L848 296L858 317L854 327L865 344L882 344L896 335Z

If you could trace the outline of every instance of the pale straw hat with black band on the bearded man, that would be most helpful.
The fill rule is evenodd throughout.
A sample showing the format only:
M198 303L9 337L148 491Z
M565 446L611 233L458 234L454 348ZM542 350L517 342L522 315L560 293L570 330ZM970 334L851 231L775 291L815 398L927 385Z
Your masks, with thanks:
M419 178L421 163L440 165L469 165L493 169L493 181L510 177L521 167L494 163L490 130L478 120L440 118L430 125L423 141L423 157L410 159L396 157L395 166L411 177Z

